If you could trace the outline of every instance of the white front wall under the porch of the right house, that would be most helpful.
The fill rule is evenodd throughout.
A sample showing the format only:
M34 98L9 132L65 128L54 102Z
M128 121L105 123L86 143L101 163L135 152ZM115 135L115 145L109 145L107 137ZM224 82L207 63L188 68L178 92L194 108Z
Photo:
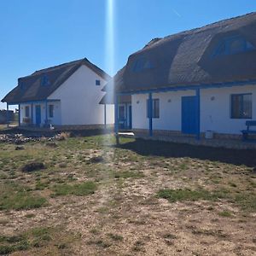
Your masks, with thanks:
M230 95L240 93L253 94L252 119L256 119L256 85L201 90L201 132L212 130L218 133L241 134L241 130L246 128L246 119L230 118ZM152 96L160 99L160 118L153 119L153 129L181 131L181 97L195 96L195 90L154 93ZM134 129L148 129L147 99L148 94L131 96Z

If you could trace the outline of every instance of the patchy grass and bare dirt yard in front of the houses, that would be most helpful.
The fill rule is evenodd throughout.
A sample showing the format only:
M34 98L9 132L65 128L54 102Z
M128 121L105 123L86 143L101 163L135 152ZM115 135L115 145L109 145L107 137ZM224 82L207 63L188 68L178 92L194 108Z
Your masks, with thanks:
M0 254L256 253L256 151L111 135L16 147L0 143Z

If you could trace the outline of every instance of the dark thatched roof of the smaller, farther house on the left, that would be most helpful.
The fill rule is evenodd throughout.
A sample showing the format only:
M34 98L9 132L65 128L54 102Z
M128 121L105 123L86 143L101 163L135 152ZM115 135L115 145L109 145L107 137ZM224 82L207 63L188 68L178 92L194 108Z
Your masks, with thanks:
M76 70L82 65L89 67L102 79L109 80L110 77L101 68L96 67L86 58L67 62L55 67L48 67L32 73L29 76L18 79L18 85L5 96L2 102L20 103L43 101L47 99L57 88L61 86ZM42 85L42 79L46 78L46 83Z

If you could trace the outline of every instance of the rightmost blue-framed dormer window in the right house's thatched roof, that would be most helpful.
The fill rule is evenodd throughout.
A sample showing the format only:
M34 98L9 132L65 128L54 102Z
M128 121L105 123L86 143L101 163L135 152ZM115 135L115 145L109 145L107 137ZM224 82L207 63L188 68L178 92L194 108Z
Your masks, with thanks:
M253 50L255 47L241 36L224 38L215 49L212 57L218 57L222 55L235 55L241 52Z

